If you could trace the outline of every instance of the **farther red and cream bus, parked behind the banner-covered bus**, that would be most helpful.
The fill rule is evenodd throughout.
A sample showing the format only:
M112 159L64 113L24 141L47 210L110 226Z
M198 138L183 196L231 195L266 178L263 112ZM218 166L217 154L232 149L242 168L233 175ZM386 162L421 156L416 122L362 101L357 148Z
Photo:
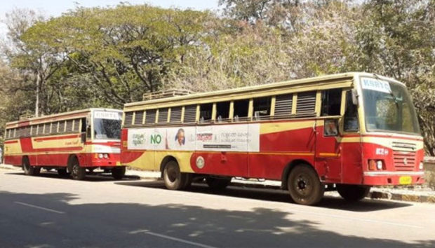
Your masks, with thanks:
M84 109L6 123L4 162L28 175L45 168L81 180L100 168L121 179L121 116L116 109Z

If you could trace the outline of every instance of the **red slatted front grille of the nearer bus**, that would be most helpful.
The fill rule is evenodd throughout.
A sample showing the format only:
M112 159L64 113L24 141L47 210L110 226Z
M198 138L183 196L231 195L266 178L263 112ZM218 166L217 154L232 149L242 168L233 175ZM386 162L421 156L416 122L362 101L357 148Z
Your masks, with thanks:
M397 171L412 171L415 168L416 144L393 142L394 168Z

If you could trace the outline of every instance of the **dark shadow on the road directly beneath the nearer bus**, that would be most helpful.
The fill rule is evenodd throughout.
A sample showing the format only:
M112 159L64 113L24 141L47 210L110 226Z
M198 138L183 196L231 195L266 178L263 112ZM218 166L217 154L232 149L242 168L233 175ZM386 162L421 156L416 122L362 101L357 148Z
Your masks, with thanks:
M115 184L126 186L137 186L147 188L165 188L163 181L123 181ZM186 191L193 193L205 193L213 195L226 195L237 198L248 198L254 200L266 200L272 202L292 203L287 191L262 188L248 188L229 186L223 191L213 191L206 184L192 184ZM354 212L372 212L384 209L394 209L399 207L408 207L411 204L405 202L392 202L386 200L362 200L360 202L347 202L339 197L325 195L318 207L330 209L341 209Z

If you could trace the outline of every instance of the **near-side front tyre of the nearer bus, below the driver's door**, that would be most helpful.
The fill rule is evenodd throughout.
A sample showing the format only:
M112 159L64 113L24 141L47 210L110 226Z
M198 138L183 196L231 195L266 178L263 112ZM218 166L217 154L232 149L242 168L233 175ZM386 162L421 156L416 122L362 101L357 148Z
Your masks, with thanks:
M309 165L297 165L291 170L287 186L291 198L302 205L316 204L325 193L325 187Z

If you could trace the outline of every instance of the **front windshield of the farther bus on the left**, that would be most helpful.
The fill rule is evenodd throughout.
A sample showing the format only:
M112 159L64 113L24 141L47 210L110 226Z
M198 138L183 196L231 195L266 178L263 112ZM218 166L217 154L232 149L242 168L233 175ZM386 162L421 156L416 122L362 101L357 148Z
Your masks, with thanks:
M95 112L93 131L95 139L121 139L121 113Z

